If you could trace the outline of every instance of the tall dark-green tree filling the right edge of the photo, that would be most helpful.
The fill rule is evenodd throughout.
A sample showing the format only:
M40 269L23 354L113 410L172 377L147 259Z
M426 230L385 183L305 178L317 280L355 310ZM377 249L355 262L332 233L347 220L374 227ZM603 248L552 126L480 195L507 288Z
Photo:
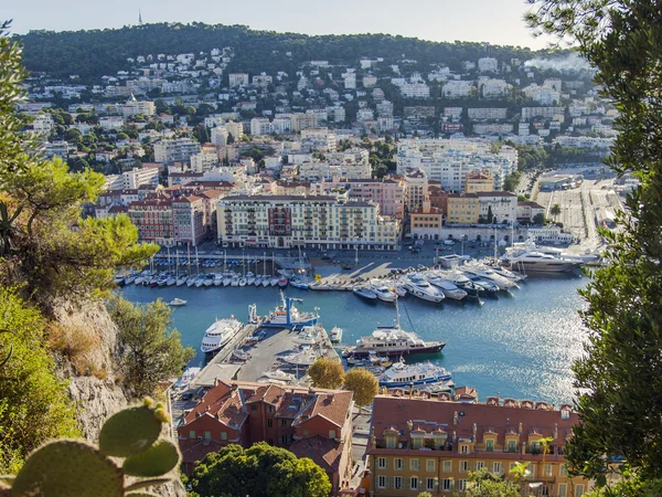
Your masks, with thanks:
M608 267L598 268L581 295L588 328L585 353L574 364L581 424L566 446L570 474L599 485L629 465L634 480L662 478L662 10L656 1L541 0L527 15L537 33L575 43L596 70L602 97L619 112L606 160L631 171L640 186L601 231Z

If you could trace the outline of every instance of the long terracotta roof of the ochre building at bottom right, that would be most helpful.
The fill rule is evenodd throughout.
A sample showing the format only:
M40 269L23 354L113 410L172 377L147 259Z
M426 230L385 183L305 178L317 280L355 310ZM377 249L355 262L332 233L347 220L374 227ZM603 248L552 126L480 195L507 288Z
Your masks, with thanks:
M447 432L455 432L458 437L472 437L476 424L477 436L492 431L498 434L498 443L504 442L506 432L515 427L520 433L538 433L543 436L554 436L557 430L556 445L564 444L569 436L573 425L579 422L576 413L569 413L565 419L558 410L549 409L548 404L541 405L531 402L531 409L519 406L515 401L512 406L498 403L466 403L449 402L438 399L403 398L377 395L373 403L372 427L377 440L383 438L384 431L394 426L401 433L408 433L408 423L413 429L420 427L433 432L439 426ZM505 400L504 400L505 403ZM524 401L523 401L524 403ZM562 406L569 411L569 406Z

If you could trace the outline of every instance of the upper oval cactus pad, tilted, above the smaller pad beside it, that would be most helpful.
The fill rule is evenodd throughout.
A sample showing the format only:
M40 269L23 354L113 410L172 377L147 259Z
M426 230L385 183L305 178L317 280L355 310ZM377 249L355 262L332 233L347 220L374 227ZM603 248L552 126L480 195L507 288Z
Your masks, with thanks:
M161 422L146 405L125 409L110 416L99 433L99 450L115 457L130 457L147 451L161 433Z

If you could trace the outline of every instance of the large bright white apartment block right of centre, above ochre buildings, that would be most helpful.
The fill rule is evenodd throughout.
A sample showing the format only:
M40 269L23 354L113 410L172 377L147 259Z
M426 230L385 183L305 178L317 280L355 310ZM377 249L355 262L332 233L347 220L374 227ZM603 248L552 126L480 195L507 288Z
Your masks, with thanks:
M492 152L490 140L482 138L402 140L397 149L397 173L418 168L428 180L440 181L444 190L462 192L469 172L487 169L494 178L494 189L500 190L517 165L517 151L503 146Z

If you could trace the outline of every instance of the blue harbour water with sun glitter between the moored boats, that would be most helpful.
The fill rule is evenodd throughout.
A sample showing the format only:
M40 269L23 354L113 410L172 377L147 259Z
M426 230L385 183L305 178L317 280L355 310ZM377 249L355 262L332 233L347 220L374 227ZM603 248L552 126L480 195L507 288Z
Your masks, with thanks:
M530 277L511 295L487 298L483 305L445 300L428 304L418 298L401 299L401 324L427 340L444 340L442 355L431 356L453 373L456 385L478 389L481 400L500 393L516 399L553 403L573 399L570 363L583 352L585 339L578 309L584 306L577 289L586 277ZM131 285L124 295L138 303L174 297L189 300L175 308L172 319L182 341L199 350L205 329L214 318L248 317L248 305L265 315L278 304L277 288L211 287L149 288ZM302 297L303 310L320 308L322 326L344 329L343 343L353 343L376 326L395 321L395 307L366 303L351 292L306 292L288 288ZM202 355L194 362L202 361Z

